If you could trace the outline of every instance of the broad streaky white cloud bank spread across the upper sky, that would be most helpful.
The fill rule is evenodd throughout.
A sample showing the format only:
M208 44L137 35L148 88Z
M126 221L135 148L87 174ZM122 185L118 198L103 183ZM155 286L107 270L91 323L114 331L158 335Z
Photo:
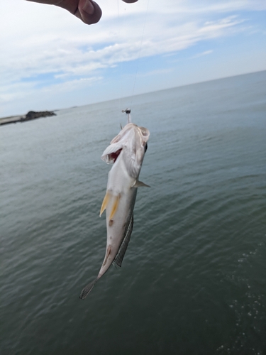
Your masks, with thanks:
M170 55L247 28L253 31L242 12L266 9L260 0L167 0L163 5L161 0L149 4L99 0L102 20L85 26L56 6L11 2L0 4L0 101L5 103L36 89L47 95L56 87L65 92L80 89L81 82L100 82L107 70L139 56ZM203 50L193 58L210 53ZM149 72L153 71L146 75ZM154 73L160 75L160 70ZM42 84L36 80L48 74L50 80Z

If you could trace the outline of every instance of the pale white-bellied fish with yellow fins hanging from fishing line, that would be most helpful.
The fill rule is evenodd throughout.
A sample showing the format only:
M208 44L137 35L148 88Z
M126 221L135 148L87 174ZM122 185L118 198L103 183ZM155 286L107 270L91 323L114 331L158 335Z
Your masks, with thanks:
M129 121L129 120L128 120ZM138 180L150 131L129 121L101 155L109 171L101 214L106 211L106 253L97 277L79 295L84 300L112 263L122 265L133 230L133 209L138 187L150 187Z

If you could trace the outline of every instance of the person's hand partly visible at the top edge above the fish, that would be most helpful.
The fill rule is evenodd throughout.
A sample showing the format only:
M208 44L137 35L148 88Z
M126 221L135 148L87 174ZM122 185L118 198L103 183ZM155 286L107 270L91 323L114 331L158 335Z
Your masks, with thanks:
M87 25L99 22L101 18L101 8L93 0L28 0L39 2L41 4L49 4L60 6L67 11L70 11L74 16L80 18ZM122 0L128 4L138 0Z

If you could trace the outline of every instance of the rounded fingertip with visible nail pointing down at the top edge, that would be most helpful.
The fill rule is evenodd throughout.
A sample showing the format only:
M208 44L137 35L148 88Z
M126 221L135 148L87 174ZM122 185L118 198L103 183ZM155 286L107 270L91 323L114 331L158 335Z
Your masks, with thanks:
M95 1L79 0L79 6L74 15L80 18L84 23L92 25L93 23L99 22L101 18L101 8Z

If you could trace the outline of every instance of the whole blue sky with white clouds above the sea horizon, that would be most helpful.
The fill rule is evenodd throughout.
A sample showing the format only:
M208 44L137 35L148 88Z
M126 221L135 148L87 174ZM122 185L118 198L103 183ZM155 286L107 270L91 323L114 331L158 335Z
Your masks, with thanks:
M103 16L88 26L1 0L0 117L266 70L265 0L97 2Z

